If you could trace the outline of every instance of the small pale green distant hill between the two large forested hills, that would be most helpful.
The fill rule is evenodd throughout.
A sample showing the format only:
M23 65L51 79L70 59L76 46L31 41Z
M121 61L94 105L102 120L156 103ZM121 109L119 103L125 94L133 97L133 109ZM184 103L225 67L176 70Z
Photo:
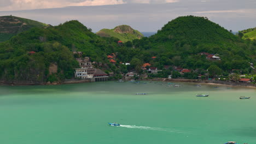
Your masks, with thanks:
M115 37L123 42L144 37L142 33L127 25L117 26L114 29L101 29L96 34L101 37Z

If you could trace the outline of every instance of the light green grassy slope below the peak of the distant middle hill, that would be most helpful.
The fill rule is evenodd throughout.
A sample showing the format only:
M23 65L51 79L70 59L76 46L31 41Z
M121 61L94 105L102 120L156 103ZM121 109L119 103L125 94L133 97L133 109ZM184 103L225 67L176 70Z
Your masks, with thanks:
M134 34L132 33L117 33L114 32L114 29L101 29L101 31L98 31L96 34L100 35L101 37L115 37L120 39L123 42L126 41L132 41L133 39L138 39L139 37L143 37L143 34L140 33L139 31L133 29L133 31L135 31Z

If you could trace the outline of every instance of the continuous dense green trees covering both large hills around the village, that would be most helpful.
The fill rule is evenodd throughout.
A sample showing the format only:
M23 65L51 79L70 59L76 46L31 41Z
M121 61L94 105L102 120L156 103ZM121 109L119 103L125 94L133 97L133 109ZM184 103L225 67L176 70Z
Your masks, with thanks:
M149 38L134 39L123 45L118 45L118 40L100 37L78 21L48 28L34 27L0 43L0 80L44 83L71 79L74 68L79 67L72 51L82 51L83 57L89 56L97 62L96 67L115 74L133 70L142 74L144 63L158 69L176 65L192 70L181 75L171 67L149 77L172 74L173 78L197 79L199 75L205 78L208 72L210 77L228 77L232 69L238 69L240 74L256 73L250 65L256 63L256 40L243 40L241 34L234 35L206 17L178 17ZM36 53L28 55L30 51ZM206 55L199 55L201 52L218 53L221 60L207 59ZM110 53L117 53L117 63L109 63ZM121 64L127 62L131 65ZM58 66L57 73L50 74L50 64Z

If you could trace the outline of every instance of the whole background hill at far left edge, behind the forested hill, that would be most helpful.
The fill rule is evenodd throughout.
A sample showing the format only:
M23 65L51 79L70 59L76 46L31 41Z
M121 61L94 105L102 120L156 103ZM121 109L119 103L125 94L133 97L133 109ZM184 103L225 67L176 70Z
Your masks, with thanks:
M16 16L0 16L0 42L32 27L47 27L44 23Z

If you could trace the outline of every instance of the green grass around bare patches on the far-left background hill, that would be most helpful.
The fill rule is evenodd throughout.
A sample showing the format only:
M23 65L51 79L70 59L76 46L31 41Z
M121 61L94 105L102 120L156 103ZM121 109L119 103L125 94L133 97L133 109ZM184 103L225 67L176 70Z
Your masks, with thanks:
M18 24L14 24L14 23L8 23L8 22L0 22L0 26L2 26L3 28L0 29L0 31L5 30L5 29L9 29L10 31L12 31L11 33L0 33L0 42L1 41L5 41L10 39L11 37L13 37L14 35L27 31L28 29L32 28L32 27L46 27L48 25L46 25L45 23L42 22L38 22L38 21L34 21L34 20L29 20L29 19L24 19L22 17L16 17L16 16L1 16L1 18L5 18L8 19L10 21L12 21L13 19L18 19L19 21L21 21L21 23ZM22 25L22 23L26 23L26 25Z

